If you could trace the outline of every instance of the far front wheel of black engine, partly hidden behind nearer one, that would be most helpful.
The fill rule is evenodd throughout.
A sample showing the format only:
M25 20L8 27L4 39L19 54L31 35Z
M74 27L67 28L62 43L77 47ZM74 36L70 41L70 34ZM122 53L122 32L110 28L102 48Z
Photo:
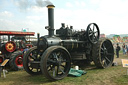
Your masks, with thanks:
M30 48L23 57L23 66L27 73L31 75L42 74L40 70L40 55L37 46Z

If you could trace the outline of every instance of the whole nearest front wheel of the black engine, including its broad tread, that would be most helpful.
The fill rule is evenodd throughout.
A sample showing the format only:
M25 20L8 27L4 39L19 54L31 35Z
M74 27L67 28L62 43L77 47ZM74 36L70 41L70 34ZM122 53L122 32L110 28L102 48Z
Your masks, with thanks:
M69 52L62 46L46 49L41 57L41 70L50 80L60 80L68 75L71 67Z

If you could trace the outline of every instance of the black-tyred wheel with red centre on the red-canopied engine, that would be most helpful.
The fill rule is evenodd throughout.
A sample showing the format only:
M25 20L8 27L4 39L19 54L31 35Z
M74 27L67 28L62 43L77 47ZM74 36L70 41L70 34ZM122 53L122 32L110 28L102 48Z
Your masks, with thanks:
M12 70L20 70L23 69L23 53L22 51L16 51L11 54L10 61L9 61L10 67Z

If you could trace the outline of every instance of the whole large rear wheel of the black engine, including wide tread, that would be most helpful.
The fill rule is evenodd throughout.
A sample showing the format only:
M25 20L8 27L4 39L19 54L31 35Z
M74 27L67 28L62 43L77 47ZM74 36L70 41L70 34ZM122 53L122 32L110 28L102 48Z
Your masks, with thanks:
M109 39L102 38L93 45L93 61L98 68L106 68L112 65L114 60L114 48Z

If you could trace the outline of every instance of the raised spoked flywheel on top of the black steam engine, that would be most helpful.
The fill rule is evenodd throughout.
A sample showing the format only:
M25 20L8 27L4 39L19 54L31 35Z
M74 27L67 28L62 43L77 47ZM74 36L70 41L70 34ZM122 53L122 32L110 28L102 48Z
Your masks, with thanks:
M96 44L100 37L100 30L96 23L90 23L87 26L86 36L92 44Z

